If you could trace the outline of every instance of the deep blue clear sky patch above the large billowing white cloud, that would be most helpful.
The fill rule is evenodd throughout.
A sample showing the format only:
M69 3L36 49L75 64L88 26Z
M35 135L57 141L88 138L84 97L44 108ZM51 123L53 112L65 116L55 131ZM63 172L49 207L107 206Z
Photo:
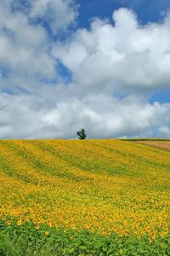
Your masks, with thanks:
M79 26L88 27L93 17L111 20L114 9L122 7L133 9L142 24L161 21L170 9L169 0L77 0L79 9Z

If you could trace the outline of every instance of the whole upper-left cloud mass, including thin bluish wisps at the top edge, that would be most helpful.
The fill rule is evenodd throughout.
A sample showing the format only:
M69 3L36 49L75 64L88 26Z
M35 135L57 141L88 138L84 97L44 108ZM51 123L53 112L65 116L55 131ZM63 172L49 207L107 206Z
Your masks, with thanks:
M0 67L6 74L2 84L5 82L26 88L27 79L33 90L34 84L42 79L48 82L57 79L57 62L50 54L53 38L48 37L48 29L43 22L57 32L69 26L76 15L76 5L71 0L30 0L26 4L23 1L2 0ZM35 22L32 23L31 19Z

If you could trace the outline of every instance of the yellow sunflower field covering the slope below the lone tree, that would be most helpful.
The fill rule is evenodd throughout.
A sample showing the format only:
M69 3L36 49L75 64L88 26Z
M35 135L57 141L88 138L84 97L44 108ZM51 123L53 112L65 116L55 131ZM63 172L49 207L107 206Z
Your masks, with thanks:
M135 237L134 247L145 241L150 250L156 248L153 252L157 254L152 255L167 255L169 181L170 152L144 144L2 140L1 233L11 240L14 234L18 237L30 230L32 237L42 237L42 245L55 232L66 236L67 242L59 244L62 248L56 255L98 255L97 249L89 253L88 241L79 246L81 253L73 246L83 232L88 232L88 237L95 234L97 240L107 237L107 241L114 234L117 244L119 238L124 242ZM17 238L12 242L18 243ZM114 249L117 254L106 253L109 245L106 247L105 242L105 250L99 248L103 252L100 255L125 253L123 247ZM147 248L129 255L147 255L144 250Z

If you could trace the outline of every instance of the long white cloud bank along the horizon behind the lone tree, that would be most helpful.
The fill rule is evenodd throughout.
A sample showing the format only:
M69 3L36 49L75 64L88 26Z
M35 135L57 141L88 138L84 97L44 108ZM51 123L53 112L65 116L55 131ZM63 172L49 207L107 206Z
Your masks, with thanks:
M99 94L82 99L49 102L32 96L0 96L0 136L48 138L77 137L84 127L88 137L153 137L160 127L169 135L170 103L150 104L143 97L129 96L124 100ZM133 113L133 114L132 114Z

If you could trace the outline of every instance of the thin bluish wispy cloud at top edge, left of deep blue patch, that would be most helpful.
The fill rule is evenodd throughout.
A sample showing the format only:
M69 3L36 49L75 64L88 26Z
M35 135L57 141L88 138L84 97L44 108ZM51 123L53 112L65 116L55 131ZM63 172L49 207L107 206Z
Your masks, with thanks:
M8 9L27 15L31 21L45 22L54 34L74 24L78 14L74 0L2 0L2 3Z

